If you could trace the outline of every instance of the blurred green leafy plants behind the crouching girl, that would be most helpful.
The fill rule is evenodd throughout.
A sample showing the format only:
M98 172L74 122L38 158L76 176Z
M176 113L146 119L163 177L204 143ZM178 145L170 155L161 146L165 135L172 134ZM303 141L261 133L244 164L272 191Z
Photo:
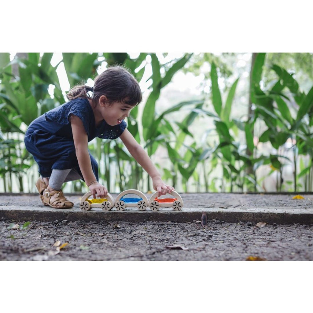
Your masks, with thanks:
M16 54L11 61L10 54L0 53L3 191L12 191L13 177L18 181L19 191L25 191L25 179L26 191L35 191L37 176L33 169L36 164L23 146L23 134L31 121L65 102L67 90L61 90L57 74L61 62L70 86L93 79L97 69L105 64L124 64L139 82L150 67L151 76L146 79L149 86L145 91L148 95L140 104L140 110L138 107L132 110L127 127L152 158L159 148L166 151L165 162L157 166L163 179L180 188L179 192L189 191L190 184L198 192L257 191L261 187L257 169L262 165L271 165L269 174L277 172L280 177L276 182L277 191L283 188L312 191L313 55L258 53L251 71L251 61L245 61L245 68L236 71L238 55L185 53L162 63L156 53L140 53L136 58L127 53L63 53L62 60L52 66L53 53ZM238 85L243 79L240 75L247 69L251 73L245 76L247 81L251 80L246 92L251 103L247 105L251 107L250 110L247 107L240 118L234 118ZM156 103L162 89L178 71L203 75L202 95L159 112ZM175 112L181 112L177 120L173 119L177 116ZM213 126L203 125L203 138L199 140L190 129L203 117L211 119ZM256 129L262 132L255 132ZM270 143L276 152L264 154L258 149L258 142ZM290 142L291 145L287 145ZM151 190L149 177L120 140L96 138L89 147L99 162L100 180L110 192L129 188ZM248 149L251 153L247 153ZM291 151L292 157L286 151ZM310 161L305 161L307 159ZM285 182L283 187L284 167L290 164L293 181ZM215 174L218 168L221 176ZM252 172L247 168L252 168ZM84 190L82 182L72 185L72 191Z

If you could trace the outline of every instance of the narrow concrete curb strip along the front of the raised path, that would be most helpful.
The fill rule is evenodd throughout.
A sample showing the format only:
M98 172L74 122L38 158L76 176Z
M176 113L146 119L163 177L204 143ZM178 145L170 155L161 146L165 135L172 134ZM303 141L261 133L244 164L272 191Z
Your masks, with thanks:
M83 212L80 209L39 209L39 208L0 208L0 218L16 221L55 221L55 220L81 220L85 222L111 222L111 221L130 221L130 222L193 222L201 220L202 213L205 212L208 219L223 220L229 223L242 222L266 222L269 224L313 224L313 209L292 209L292 208L183 208L182 211L150 210L139 211L126 209L109 212L93 209Z

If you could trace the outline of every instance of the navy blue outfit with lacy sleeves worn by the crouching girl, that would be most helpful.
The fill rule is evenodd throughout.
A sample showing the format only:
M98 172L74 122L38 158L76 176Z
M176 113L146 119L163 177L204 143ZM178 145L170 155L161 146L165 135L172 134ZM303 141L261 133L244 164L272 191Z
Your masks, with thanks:
M94 113L87 98L70 100L39 116L28 126L24 142L27 151L38 163L42 177L50 177L52 169L69 168L74 168L83 177L76 158L70 114L78 116L83 122L88 142L95 137L116 139L126 128L125 121L115 126L102 121L96 127ZM98 164L90 152L89 155L92 170L98 180Z

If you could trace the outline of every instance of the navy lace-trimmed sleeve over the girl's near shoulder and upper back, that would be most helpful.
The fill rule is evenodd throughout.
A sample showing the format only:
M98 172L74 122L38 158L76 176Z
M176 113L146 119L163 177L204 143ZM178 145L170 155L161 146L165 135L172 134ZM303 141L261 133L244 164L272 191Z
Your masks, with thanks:
M69 115L76 115L83 122L86 133L89 135L90 106L85 99L74 99L45 113L46 119L62 125L69 124Z

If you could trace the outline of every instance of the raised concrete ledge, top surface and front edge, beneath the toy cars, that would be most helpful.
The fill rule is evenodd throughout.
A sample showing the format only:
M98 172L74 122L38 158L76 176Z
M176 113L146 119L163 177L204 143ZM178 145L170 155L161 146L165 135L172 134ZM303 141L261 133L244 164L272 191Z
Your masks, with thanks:
M81 220L85 222L194 222L201 220L203 212L208 219L222 220L230 223L266 222L276 224L313 224L313 195L304 195L303 200L292 200L286 194L231 194L231 193L186 193L181 194L184 207L182 211L172 208L160 208L152 212L139 211L137 208L126 208L117 211L112 208L104 212L100 208L84 212L79 208L82 195L74 194L69 200L74 202L71 209L54 209L45 207L37 194L0 194L0 218L15 221L55 221ZM117 195L113 195L117 197Z

